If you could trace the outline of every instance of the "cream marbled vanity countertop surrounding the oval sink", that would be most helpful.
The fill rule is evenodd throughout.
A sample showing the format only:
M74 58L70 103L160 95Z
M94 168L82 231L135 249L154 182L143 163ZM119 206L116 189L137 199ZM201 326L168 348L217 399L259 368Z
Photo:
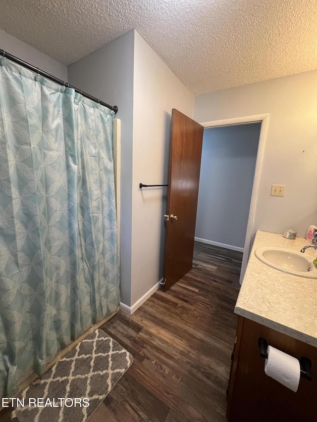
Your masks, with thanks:
M259 247L300 251L310 241L285 239L282 234L258 231L234 312L317 347L317 279L275 270L254 254ZM316 258L314 248L305 252Z

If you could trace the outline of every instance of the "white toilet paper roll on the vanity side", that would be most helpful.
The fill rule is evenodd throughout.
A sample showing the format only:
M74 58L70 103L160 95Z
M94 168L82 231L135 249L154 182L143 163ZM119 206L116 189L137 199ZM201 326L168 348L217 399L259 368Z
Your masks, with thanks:
M264 372L276 381L297 391L301 376L301 366L298 359L272 346L267 347L267 359L265 359Z

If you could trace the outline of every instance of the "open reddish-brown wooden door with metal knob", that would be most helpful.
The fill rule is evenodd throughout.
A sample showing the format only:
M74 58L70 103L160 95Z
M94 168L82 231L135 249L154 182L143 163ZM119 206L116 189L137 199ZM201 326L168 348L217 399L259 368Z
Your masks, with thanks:
M188 273L193 264L203 131L203 126L172 110L164 290Z

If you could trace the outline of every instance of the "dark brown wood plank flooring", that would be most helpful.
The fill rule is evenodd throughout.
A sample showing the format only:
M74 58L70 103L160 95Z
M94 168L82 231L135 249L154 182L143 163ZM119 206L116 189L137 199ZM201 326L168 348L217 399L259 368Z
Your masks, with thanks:
M241 261L240 252L195 242L182 280L101 327L134 362L90 422L226 421Z

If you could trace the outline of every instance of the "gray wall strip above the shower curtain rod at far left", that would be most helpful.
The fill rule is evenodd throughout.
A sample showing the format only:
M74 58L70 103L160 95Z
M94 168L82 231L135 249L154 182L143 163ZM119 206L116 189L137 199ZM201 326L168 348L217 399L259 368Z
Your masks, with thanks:
M2 30L0 30L0 48L62 81L67 81L65 65Z

